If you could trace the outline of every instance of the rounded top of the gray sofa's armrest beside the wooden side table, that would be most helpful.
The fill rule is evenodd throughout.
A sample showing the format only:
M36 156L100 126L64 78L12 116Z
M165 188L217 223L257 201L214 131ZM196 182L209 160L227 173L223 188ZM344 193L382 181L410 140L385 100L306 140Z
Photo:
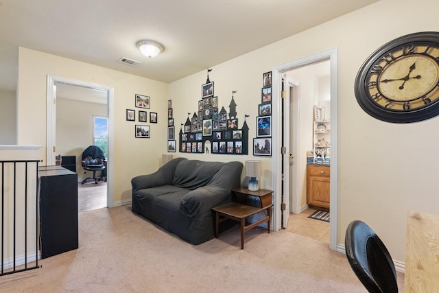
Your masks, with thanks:
M232 201L230 189L219 186L204 186L189 191L180 203L182 211L189 218L203 218L211 215L211 209Z

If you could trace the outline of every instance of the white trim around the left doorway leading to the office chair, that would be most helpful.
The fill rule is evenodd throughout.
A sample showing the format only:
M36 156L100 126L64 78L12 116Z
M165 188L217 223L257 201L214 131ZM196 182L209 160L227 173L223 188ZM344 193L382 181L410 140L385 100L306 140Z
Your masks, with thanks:
M49 107L49 104L51 104L51 99L53 98L53 86L55 82L62 82L64 84L71 84L74 86L82 86L86 87L88 89L97 89L99 91L106 91L108 93L108 162L107 162L107 177L110 180L107 180L107 207L114 207L113 199L113 169L112 165L114 163L113 161L113 149L114 149L114 139L113 134L115 133L115 110L113 105L115 104L115 89L111 86L106 86L102 84L95 84L93 82L84 82L82 80L72 80L70 78L60 78L53 75L47 75L47 165L55 165L55 162L52 162L49 160L51 158L51 152L49 152L49 148L51 145L53 145L52 138L49 136L49 130L51 130L51 124L49 125L49 119L52 119L53 113L52 109L53 107ZM51 162L51 164L50 164Z

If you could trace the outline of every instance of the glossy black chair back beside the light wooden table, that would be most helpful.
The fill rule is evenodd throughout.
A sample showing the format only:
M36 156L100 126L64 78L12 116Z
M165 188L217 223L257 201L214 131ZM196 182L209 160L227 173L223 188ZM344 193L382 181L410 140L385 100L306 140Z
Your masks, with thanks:
M349 264L368 292L398 292L392 257L367 224L359 220L351 222L344 242Z

